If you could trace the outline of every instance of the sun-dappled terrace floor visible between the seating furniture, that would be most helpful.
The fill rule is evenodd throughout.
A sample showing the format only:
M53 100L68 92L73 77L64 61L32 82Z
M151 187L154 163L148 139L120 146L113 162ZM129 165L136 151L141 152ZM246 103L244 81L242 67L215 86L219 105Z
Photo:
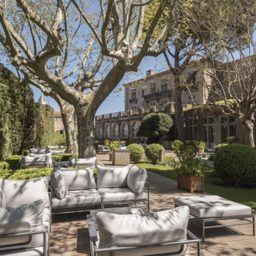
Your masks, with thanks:
M108 154L99 154L97 161L99 164L111 166L108 157ZM191 195L184 189L177 189L175 180L152 172L148 172L148 181L150 182L151 212L174 208L173 198L177 195ZM201 195L201 193L198 194ZM86 215L87 212L53 216L50 256L88 255L89 234ZM239 222L241 221L223 221L224 224ZM194 218L190 218L188 229L201 238L201 228ZM191 245L189 248L190 255L195 256L195 246ZM252 236L251 225L233 226L233 229L222 227L206 230L206 240L201 244L201 255L256 256L256 237Z

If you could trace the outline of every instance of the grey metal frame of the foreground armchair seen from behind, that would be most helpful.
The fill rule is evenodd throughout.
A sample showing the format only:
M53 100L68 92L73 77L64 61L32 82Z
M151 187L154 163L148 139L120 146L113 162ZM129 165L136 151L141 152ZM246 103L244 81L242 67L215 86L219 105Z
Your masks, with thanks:
M143 246L131 246L131 247L108 247L108 248L102 248L97 249L96 242L98 241L97 232L95 228L95 223L93 221L92 215L87 215L87 221L88 221L88 229L89 229L89 239L91 242L93 242L93 250L94 250L94 256L98 256L98 253L101 252L113 252L113 251L120 251L120 250L129 250L129 249L138 249L138 248L145 248L145 247L154 247L154 246L165 246L165 245L178 245L181 244L181 249L178 252L175 253L161 253L161 254L153 254L150 256L167 256L167 255L175 255L177 253L182 252L184 244L197 244L197 256L201 255L201 241L198 239L194 234L192 234L189 230L187 230L187 234L192 238L191 240L184 240L184 241L175 241L170 243L164 243L164 244L153 244L153 245L143 245ZM89 255L91 255L90 246L89 246Z

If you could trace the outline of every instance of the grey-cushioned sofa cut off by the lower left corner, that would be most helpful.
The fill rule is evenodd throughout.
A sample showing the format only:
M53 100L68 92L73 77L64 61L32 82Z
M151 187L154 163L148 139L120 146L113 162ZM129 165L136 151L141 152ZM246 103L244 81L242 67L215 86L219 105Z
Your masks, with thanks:
M0 256L48 256L49 176L0 179Z

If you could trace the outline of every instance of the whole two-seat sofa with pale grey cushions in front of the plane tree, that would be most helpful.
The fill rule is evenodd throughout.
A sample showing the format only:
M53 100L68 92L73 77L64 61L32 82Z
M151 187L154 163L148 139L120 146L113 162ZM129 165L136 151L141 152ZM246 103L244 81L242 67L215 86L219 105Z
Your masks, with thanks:
M52 213L85 211L83 207L100 207L108 204L144 202L149 211L149 184L145 169L129 164L110 168L97 166L97 184L94 167L67 169L56 167L52 171ZM144 192L145 183L148 191ZM86 209L87 210L87 209Z

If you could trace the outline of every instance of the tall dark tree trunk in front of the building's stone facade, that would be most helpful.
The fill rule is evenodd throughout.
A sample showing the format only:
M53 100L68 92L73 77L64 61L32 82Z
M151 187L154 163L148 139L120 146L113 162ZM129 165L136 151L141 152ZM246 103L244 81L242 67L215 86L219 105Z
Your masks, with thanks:
M175 95L174 95L174 110L175 123L180 140L186 140L185 118L183 113L183 106L181 100L182 88L180 87L180 77L175 76Z

